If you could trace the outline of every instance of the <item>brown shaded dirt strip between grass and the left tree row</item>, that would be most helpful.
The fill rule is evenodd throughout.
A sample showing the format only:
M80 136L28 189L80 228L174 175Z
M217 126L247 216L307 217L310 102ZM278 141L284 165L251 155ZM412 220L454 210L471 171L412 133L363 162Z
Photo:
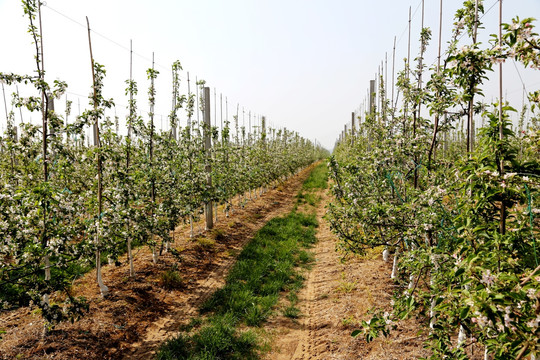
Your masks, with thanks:
M159 345L187 323L197 307L224 283L227 271L244 244L269 219L288 213L294 196L311 168L301 171L236 211L220 214L216 230L189 238L189 226L175 231L170 253L152 264L147 247L135 251L136 278L130 279L127 263L105 266L104 282L111 295L103 299L95 284L95 272L79 279L76 296L84 296L89 312L80 320L57 325L42 337L38 313L21 308L0 313L0 359L151 359ZM235 199L236 204L236 199ZM201 229L201 225L196 228ZM124 259L125 260L125 259ZM179 289L165 290L161 275L173 265L183 277Z

